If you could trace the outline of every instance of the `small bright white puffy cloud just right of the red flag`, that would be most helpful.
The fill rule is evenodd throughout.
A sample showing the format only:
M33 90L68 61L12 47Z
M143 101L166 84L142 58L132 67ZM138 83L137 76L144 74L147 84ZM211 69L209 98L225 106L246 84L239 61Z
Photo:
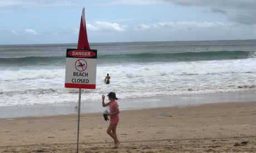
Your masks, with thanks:
M124 32L126 27L127 25L100 21L96 21L95 24L87 24L87 29L92 31L107 30L115 32Z

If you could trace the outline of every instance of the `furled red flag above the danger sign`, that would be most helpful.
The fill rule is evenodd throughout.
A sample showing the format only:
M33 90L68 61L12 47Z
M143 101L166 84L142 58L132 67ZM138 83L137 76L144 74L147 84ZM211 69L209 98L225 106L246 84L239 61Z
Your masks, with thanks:
M83 8L82 16L81 16L77 49L91 49L90 45L88 43L88 38L87 38L87 33L86 33L85 8Z

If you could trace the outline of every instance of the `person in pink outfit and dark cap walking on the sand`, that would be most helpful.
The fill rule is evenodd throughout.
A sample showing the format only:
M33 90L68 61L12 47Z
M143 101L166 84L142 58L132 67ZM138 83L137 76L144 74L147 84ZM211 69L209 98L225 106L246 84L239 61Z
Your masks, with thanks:
M120 144L120 141L117 139L116 135L116 126L119 123L119 105L116 102L118 98L116 98L116 94L114 92L110 92L107 94L107 96L109 97L109 103L105 104L105 95L102 95L102 106L110 106L110 112L107 113L107 115L110 116L110 124L107 128L107 134L114 139L115 145L112 147L112 149L116 149Z

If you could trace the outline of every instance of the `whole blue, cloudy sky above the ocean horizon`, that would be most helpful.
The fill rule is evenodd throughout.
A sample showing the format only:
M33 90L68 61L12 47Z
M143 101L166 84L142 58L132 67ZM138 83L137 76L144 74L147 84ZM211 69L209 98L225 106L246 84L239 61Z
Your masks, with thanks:
M255 0L0 0L0 45L256 39Z

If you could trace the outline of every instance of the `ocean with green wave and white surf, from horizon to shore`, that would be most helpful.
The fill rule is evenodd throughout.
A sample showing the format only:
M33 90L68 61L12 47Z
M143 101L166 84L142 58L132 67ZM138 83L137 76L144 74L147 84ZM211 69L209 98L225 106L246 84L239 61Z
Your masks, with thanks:
M97 49L96 89L82 89L81 101L100 101L92 106L109 91L125 100L256 89L256 40L90 47ZM64 87L67 48L76 44L0 45L0 108L77 103L78 89ZM107 73L109 85L103 82Z

